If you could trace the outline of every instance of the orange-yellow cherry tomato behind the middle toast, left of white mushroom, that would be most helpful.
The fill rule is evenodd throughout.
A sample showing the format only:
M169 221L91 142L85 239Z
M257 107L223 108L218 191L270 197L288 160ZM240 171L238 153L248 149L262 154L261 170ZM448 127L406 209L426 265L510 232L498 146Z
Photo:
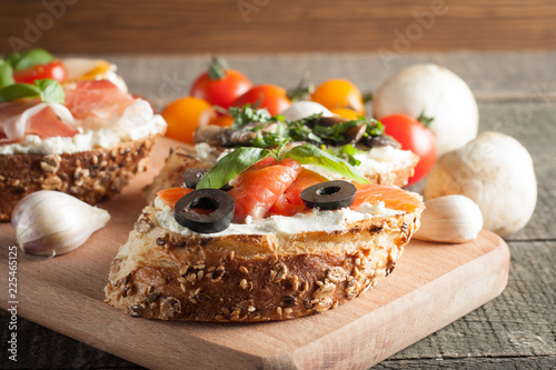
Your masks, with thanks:
M351 109L357 116L365 114L361 93L357 87L344 79L328 80L321 83L311 94L311 100L332 110Z

